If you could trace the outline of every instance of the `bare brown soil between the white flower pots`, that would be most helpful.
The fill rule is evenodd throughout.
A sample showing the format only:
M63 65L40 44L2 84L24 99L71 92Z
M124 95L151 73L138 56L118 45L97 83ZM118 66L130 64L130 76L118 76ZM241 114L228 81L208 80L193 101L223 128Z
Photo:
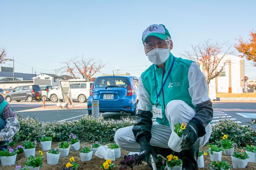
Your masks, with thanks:
M89 143L81 143L80 147L82 147L83 145L87 145L89 146ZM52 144L52 148L57 148L58 147L58 143L53 143ZM201 148L201 150L207 150L207 146L204 146ZM41 150L41 146L40 144L37 144L36 147L36 155L38 156L39 153L38 151ZM112 163L114 163L116 165L115 168L113 168L113 170L119 170L120 166L119 166L119 162L123 159L124 155L128 154L129 152L125 151L125 150L121 150L121 158L117 159L116 161L112 161ZM43 155L45 156L43 158L43 167L40 168L40 170L61 170L61 168L63 166L66 165L66 163L69 162L70 157L74 157L76 163L78 163L80 165L80 170L102 170L100 168L100 166L104 163L104 159L100 159L96 156L93 156L93 158L91 159L91 161L89 162L81 162L80 161L80 156L79 156L79 151L76 152L72 152L70 150L69 152L69 156L68 157L60 157L59 158L59 163L58 165L48 165L47 164L47 159L46 159L46 151L43 151ZM231 156L225 156L224 154L222 155L222 160L228 161L228 163L232 163L231 161ZM27 159L24 157L24 154L19 154L17 155L17 159L16 159L16 163L13 166L0 166L0 170L15 170L15 166L17 165L21 165L22 167L25 166ZM210 165L210 155L206 155L204 156L204 165L205 168L199 168L199 170L210 170L210 168L208 168L208 165ZM149 166L147 166L146 163L143 162L143 165L140 166L135 166L134 170L152 170L152 168L150 168ZM233 168L231 167L230 170L233 170ZM239 170L239 169L237 169ZM247 168L243 168L241 170L256 170L256 163L248 163Z

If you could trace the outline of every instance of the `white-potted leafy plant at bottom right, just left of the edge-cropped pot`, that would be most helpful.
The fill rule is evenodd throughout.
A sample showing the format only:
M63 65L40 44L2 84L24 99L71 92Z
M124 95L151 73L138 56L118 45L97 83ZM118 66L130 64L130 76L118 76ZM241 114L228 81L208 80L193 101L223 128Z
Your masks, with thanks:
M245 168L248 163L248 158L248 154L243 149L241 152L234 152L231 156L233 168Z

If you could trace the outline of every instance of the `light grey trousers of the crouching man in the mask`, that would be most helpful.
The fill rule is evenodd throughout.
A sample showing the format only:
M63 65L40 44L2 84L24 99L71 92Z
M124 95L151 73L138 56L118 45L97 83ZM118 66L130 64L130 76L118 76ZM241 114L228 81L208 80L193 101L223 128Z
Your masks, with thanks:
M171 132L174 129L174 124L176 124L178 121L180 123L189 122L195 116L195 110L193 110L193 108L187 105L184 101L174 100L167 104L165 114L170 123L170 127L162 124L152 125L152 138L150 140L150 144L152 146L169 148L167 143L169 141ZM140 152L141 146L135 141L132 128L133 126L128 126L117 130L115 133L115 143L117 143L120 148L129 152ZM205 130L206 134L200 137L200 147L204 146L210 139L210 123L206 126Z

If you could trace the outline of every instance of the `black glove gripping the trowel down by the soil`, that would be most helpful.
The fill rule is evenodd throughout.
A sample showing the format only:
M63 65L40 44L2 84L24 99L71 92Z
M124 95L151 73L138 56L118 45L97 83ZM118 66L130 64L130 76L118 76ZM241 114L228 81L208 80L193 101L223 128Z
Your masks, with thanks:
M150 160L150 154L152 155L155 162L157 162L157 152L156 149L150 145L148 138L143 138L141 141L139 141L139 144L141 145L141 152L139 153L139 157L148 163L150 167L151 160Z

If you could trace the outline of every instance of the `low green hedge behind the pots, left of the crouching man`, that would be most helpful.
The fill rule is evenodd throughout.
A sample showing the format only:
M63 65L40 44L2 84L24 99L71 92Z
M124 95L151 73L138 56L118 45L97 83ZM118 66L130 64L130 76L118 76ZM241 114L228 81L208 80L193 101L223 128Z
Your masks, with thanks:
M117 129L126 126L132 126L135 121L129 118L120 121L104 121L93 119L86 115L79 120L63 122L39 122L32 118L22 118L18 116L20 130L14 136L16 141L25 141L28 139L39 140L42 135L52 137L52 141L67 141L69 134L79 134L80 140L85 142L99 141L109 143L114 141L114 135Z

